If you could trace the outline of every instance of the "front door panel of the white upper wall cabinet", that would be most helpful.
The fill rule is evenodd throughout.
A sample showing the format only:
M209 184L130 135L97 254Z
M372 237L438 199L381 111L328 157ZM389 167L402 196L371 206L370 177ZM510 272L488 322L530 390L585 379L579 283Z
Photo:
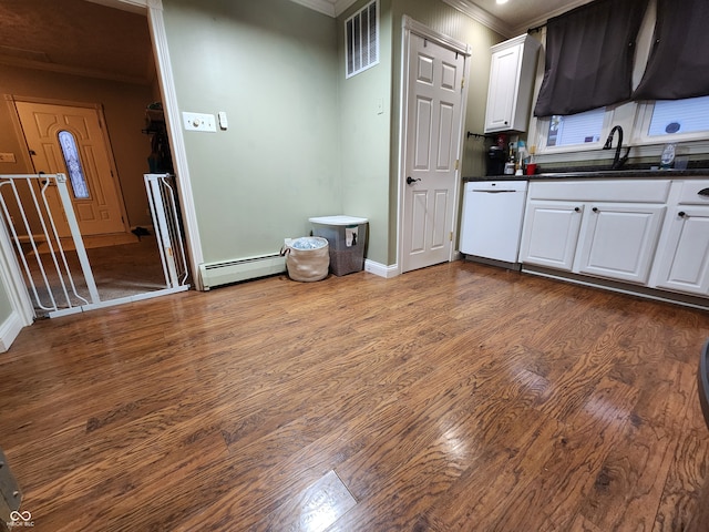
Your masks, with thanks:
M521 54L522 44L492 54L485 132L506 131L512 127Z

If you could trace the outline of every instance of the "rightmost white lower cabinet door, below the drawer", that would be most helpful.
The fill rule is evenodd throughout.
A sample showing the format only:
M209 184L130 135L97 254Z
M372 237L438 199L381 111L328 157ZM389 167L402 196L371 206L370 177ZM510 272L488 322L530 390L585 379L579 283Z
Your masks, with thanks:
M675 207L658 249L657 287L709 295L709 206Z

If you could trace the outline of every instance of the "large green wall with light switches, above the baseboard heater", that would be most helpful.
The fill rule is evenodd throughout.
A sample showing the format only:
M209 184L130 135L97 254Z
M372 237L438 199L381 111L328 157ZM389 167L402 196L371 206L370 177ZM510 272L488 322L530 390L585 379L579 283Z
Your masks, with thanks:
M181 112L227 113L185 131L206 263L277 253L340 214L336 22L288 0L164 0Z

